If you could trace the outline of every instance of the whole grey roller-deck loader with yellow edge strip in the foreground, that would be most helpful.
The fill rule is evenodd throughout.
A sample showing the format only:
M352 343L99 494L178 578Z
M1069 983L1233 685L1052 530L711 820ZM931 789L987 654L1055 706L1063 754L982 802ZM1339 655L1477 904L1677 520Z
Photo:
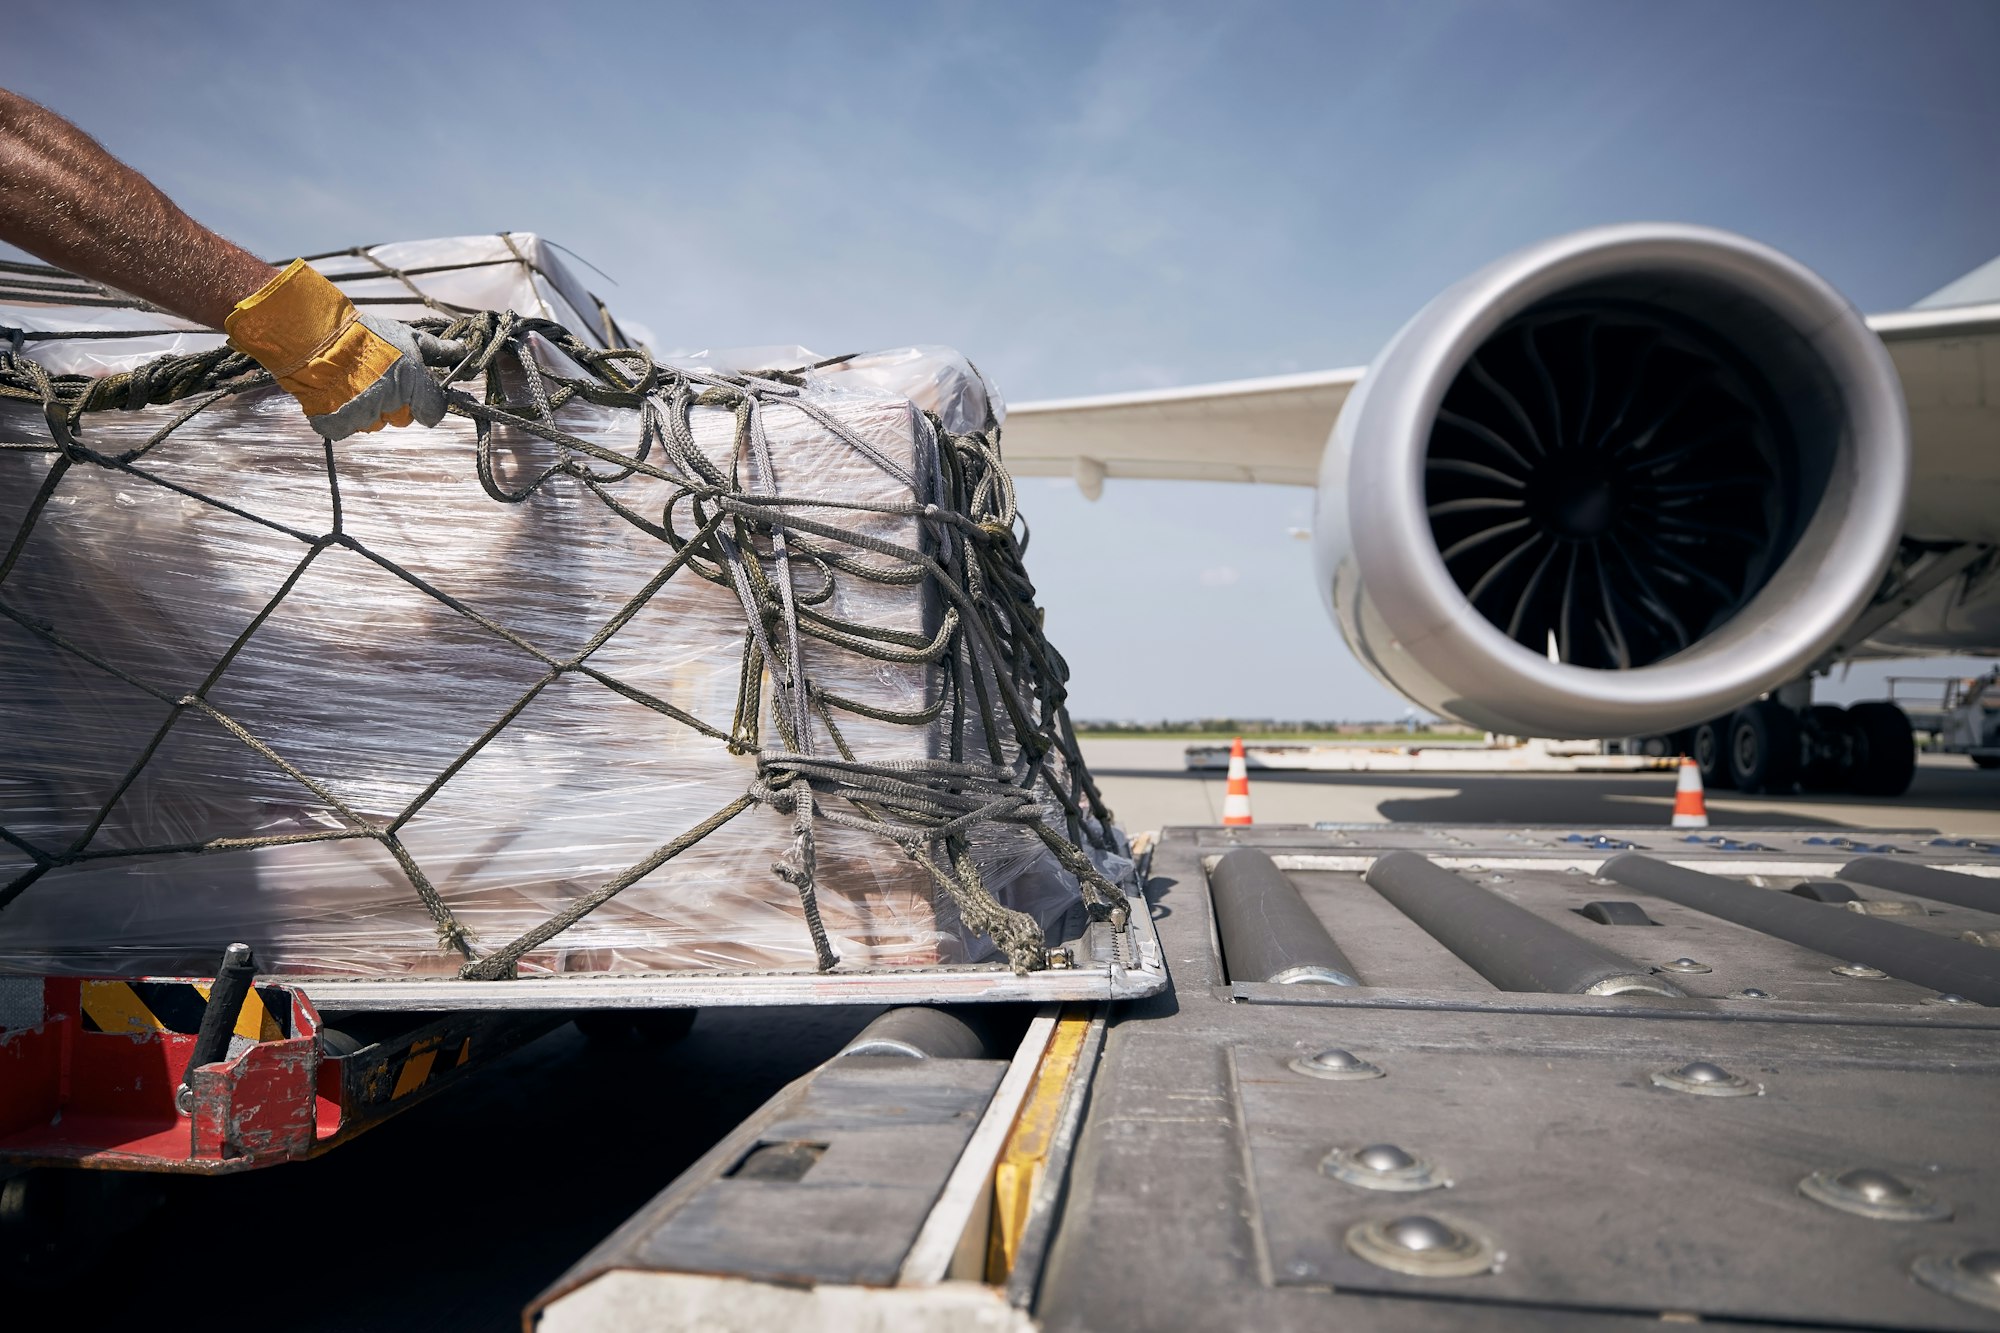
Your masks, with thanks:
M1174 829L1148 897L1170 993L836 1057L530 1327L2000 1327L2000 845Z

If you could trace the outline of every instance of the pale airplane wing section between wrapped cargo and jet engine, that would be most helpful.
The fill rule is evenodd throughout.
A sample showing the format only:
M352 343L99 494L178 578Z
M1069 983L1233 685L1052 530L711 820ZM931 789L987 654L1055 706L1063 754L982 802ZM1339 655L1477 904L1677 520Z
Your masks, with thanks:
M1280 374L1096 398L1020 402L1006 414L1016 476L1106 476L1312 486L1320 448L1362 368Z

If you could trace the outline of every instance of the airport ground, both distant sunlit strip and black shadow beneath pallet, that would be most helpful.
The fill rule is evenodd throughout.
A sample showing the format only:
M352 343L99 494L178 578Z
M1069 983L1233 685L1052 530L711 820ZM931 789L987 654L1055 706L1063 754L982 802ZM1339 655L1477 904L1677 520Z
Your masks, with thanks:
M1084 745L1132 829L1216 823L1222 775L1178 743ZM1664 825L1674 775L1252 777L1258 823ZM1718 827L2000 835L2000 773L1926 757L1908 797L1712 793ZM232 1321L310 1331L518 1329L520 1309L874 1011L710 1011L664 1051L602 1051L572 1027L326 1159L162 1181L94 1273L38 1293L60 1327ZM18 1299L18 1297L16 1297ZM20 1307L12 1307L20 1309Z

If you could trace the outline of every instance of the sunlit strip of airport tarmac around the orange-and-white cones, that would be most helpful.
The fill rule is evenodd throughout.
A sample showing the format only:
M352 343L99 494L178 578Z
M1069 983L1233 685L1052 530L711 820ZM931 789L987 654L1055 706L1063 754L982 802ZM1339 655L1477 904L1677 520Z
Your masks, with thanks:
M1222 773L1188 773L1184 741L1084 741L1084 761L1128 831L1222 823ZM1258 823L1664 825L1672 773L1274 773L1250 775ZM1708 793L1718 827L1936 829L2000 837L2000 773L1964 755L1922 755L1902 797Z

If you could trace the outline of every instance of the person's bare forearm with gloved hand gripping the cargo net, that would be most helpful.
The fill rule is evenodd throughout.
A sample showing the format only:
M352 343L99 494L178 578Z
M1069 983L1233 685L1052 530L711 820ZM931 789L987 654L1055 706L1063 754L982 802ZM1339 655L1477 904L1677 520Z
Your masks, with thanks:
M302 262L280 272L216 236L74 124L4 88L0 240L226 328L328 438L444 416L406 324L360 314Z

